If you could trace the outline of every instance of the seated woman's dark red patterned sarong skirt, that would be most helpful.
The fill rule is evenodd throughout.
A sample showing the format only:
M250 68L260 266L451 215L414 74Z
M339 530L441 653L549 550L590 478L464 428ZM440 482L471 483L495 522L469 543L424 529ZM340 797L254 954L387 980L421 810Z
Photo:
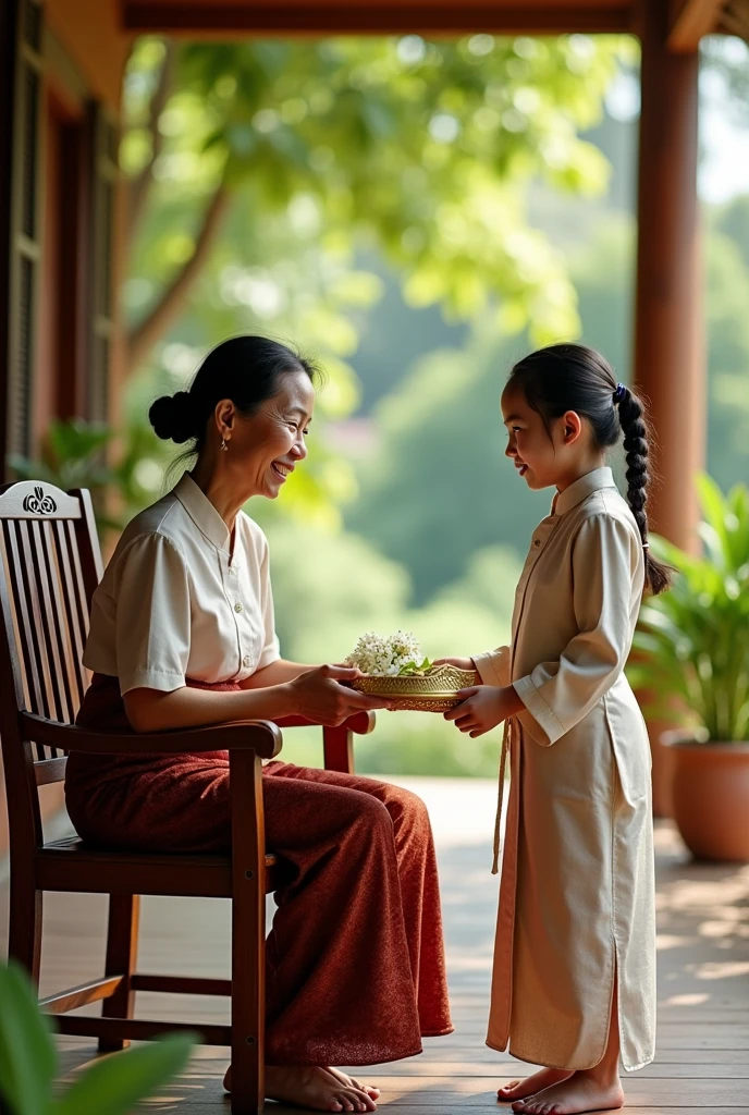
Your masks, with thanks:
M198 688L234 690L232 683ZM95 675L78 724L129 728L116 678ZM68 758L68 812L106 847L228 852L228 756ZM373 1065L451 1032L429 817L387 783L273 762L268 847L292 865L266 949L266 1061Z

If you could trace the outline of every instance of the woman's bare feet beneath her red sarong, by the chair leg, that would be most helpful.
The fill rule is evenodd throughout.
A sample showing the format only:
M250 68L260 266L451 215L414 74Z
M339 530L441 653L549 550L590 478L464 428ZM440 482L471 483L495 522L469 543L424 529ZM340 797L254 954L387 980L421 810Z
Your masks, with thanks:
M224 1088L232 1090L232 1068ZM304 1065L266 1065L265 1098L315 1112L373 1112L379 1088L359 1084L337 1068Z

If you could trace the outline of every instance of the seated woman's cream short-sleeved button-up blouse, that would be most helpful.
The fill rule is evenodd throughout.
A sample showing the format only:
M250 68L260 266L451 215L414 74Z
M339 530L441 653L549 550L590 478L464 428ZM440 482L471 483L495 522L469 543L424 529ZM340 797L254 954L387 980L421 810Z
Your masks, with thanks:
M94 593L84 665L121 694L242 681L280 658L268 541L228 529L189 473L125 529Z

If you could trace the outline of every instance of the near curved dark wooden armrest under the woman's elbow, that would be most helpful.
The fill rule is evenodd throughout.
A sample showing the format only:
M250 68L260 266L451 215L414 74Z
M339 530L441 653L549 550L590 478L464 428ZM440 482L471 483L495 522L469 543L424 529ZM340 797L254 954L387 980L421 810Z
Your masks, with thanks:
M97 755L246 750L272 759L282 744L280 730L269 720L232 720L176 731L91 731L75 724L57 724L33 712L19 712L19 726L23 739L45 747Z

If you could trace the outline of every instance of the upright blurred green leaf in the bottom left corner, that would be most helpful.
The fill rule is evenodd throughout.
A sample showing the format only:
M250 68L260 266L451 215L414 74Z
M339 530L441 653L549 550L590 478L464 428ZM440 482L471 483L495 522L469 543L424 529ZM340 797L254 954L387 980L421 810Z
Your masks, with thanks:
M57 1053L23 968L0 968L0 1095L12 1115L47 1115Z

